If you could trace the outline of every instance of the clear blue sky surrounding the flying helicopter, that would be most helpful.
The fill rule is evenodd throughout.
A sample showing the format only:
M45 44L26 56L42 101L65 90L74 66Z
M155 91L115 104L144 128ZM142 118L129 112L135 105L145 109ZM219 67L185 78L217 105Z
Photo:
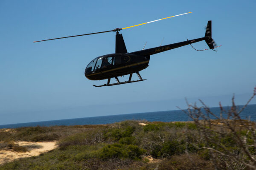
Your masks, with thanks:
M185 98L231 105L233 94L244 105L256 85L255 7L255 0L1 0L0 125L176 110L186 108ZM140 71L143 82L96 88L107 80L84 76L92 59L114 53L114 32L33 43L191 11L120 31L133 52L145 42L147 49L204 37L212 20L217 52L186 45L154 54ZM203 41L193 46L208 48Z

